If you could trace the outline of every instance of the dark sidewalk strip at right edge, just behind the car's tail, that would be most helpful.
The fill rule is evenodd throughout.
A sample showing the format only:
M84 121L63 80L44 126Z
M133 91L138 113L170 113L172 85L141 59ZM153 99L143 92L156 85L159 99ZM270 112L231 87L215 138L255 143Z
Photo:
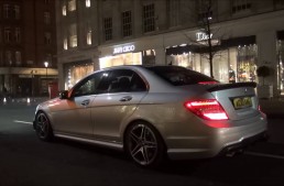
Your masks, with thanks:
M259 102L269 118L284 118L284 98L260 99Z

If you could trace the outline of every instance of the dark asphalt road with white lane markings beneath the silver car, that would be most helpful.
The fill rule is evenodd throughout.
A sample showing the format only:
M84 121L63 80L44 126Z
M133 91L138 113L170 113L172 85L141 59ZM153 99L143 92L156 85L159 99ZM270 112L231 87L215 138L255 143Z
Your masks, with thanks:
M284 119L269 121L271 139L233 157L134 165L123 153L65 140L37 140L35 106L0 105L0 186L284 185Z

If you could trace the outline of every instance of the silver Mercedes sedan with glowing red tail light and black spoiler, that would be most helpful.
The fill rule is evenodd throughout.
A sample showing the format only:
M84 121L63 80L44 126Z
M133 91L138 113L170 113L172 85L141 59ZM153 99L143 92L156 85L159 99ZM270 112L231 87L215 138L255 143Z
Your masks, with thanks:
M64 138L124 150L141 166L233 153L266 135L255 83L220 84L179 66L95 72L40 103L43 141Z

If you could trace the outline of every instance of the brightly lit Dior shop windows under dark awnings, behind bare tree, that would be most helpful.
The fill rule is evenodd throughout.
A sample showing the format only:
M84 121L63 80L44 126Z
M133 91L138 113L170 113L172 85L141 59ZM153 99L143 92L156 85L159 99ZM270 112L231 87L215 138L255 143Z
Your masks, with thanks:
M214 77L221 83L256 81L255 36L223 40L212 46ZM184 66L210 76L208 47L185 45L166 50L167 64Z

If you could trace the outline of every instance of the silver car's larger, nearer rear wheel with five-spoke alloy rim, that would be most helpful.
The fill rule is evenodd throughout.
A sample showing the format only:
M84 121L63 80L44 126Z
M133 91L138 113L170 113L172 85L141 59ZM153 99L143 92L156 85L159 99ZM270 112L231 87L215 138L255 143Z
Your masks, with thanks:
M165 145L154 127L146 122L131 124L124 138L128 155L142 167L157 167L165 156Z

